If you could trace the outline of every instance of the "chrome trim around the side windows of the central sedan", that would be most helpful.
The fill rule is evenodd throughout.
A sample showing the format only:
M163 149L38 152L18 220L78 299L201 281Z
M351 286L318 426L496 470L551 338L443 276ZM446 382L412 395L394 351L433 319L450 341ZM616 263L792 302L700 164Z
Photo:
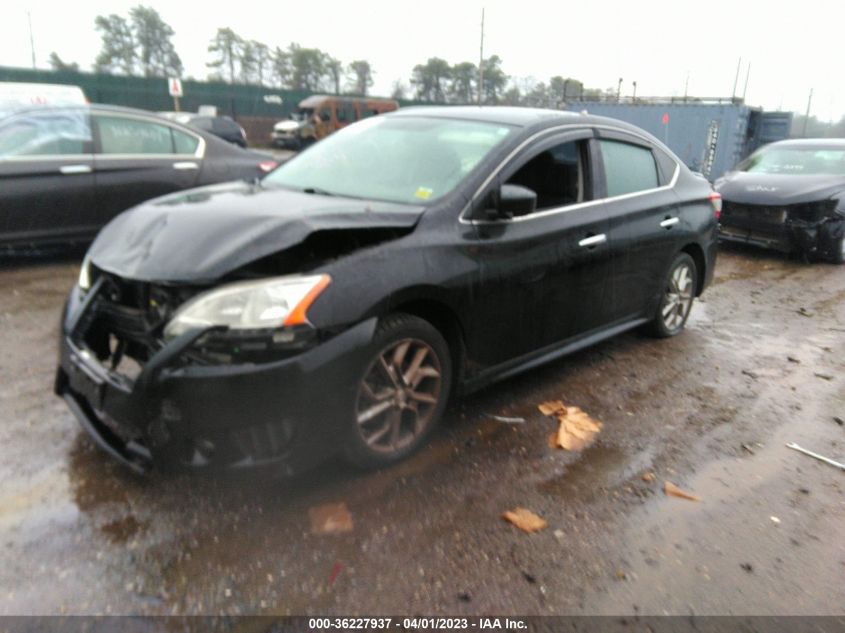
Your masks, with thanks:
M651 189L643 189L642 191L635 191L633 193L626 193L619 196L611 196L608 198L600 198L598 200L589 200L587 202L576 202L574 204L568 204L563 207L554 207L551 209L544 209L543 211L538 211L536 213L529 213L528 215L521 215L515 218L502 218L501 220L473 220L467 219L465 216L466 214L472 209L473 203L478 199L481 195L481 192L489 185L493 179L498 176L499 172L508 164L508 162L516 156L520 151L525 149L527 145L533 143L541 136L544 136L549 133L564 131L564 130L573 130L573 129L581 129L581 130L588 130L588 129L601 129L601 130L612 130L614 132L619 132L621 134L629 134L630 136L639 138L643 140L649 146L653 146L653 142L646 136L639 134L637 132L633 132L631 130L625 130L622 128L614 127L612 125L591 125L591 124L584 124L584 123L575 123L575 124L567 124L567 125L559 125L556 127L546 128L545 130L541 130L536 134L528 137L522 143L520 143L516 148L514 148L510 154L508 154L504 160L502 160L498 167L493 170L490 175L481 183L481 186L475 191L470 198L470 201L464 206L461 214L458 218L458 221L461 224L472 224L472 225L488 225L488 224L506 224L511 222L526 222L528 220L533 220L535 218L544 218L550 215L556 215L558 213L567 213L569 211L578 211L579 209L586 209L589 207L596 206L598 204L604 204L606 202L612 202L615 200L626 200L628 198L636 198L645 194L655 193L657 191L666 191L669 189L674 188L675 184L678 182L678 178L681 174L681 167L678 164L678 161L675 160L674 155L670 154L672 161L675 163L675 172L672 174L672 180L669 181L669 184L662 185L660 187L653 187ZM612 140L612 139L611 139ZM618 141L624 143L624 141ZM671 151L671 150L670 150ZM655 171L657 170L657 164L655 162Z

